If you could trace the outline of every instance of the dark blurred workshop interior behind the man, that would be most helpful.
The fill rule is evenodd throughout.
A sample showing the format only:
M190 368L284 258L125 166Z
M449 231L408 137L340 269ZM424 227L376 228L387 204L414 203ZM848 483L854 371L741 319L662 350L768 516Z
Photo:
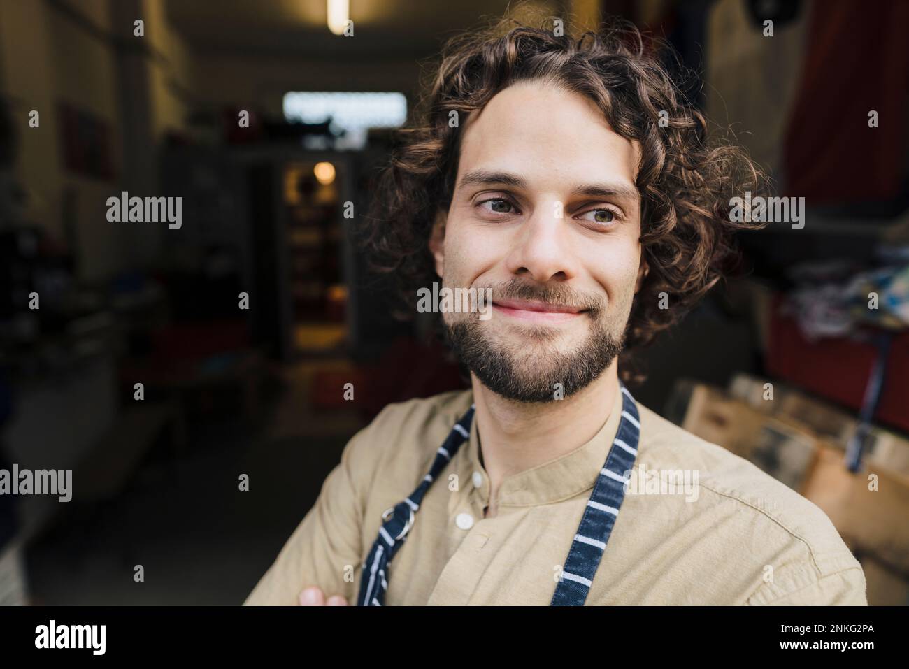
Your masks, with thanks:
M540 12L663 38L804 196L633 390L909 602L909 3L0 0L0 469L74 471L66 504L0 495L0 603L240 604L352 434L465 387L351 233L445 38ZM108 222L124 191L182 196L182 226Z

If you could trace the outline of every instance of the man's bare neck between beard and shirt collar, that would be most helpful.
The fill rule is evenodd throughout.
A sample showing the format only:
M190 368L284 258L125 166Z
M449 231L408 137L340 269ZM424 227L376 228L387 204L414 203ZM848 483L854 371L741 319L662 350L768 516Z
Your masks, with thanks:
M526 404L495 394L471 374L477 434L491 500L506 476L544 464L590 441L609 419L619 392L614 360L584 390L548 403Z

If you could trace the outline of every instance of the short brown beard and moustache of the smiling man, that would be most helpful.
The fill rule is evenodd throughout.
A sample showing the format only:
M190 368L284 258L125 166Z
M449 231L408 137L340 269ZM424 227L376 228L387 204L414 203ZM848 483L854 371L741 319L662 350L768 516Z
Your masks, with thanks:
M605 317L605 306L600 300L578 295L564 285L540 288L517 279L498 290L494 287L493 294L500 299L511 297L580 306L586 310L583 317L590 319L590 332L579 346L568 352L555 344L562 336L558 327L525 327L525 341L508 343L497 341L475 314L453 323L445 322L446 339L454 353L495 394L522 403L554 402L593 383L622 353L627 319L617 320L621 315ZM561 397L556 384L561 384Z

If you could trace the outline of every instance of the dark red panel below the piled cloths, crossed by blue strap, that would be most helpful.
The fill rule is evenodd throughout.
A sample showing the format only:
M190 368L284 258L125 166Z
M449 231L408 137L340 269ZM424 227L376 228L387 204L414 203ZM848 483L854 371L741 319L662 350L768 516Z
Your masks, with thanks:
M770 321L767 371L855 412L877 359L871 343L843 338L809 342L794 319L779 313L776 300ZM887 359L884 387L874 423L909 431L909 333L895 335Z

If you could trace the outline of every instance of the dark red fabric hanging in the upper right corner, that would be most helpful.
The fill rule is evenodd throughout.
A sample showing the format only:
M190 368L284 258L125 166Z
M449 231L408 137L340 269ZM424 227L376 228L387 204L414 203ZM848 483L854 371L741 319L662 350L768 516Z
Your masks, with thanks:
M909 2L824 0L808 20L784 140L785 195L812 205L891 199L907 145ZM868 127L872 110L876 128Z

